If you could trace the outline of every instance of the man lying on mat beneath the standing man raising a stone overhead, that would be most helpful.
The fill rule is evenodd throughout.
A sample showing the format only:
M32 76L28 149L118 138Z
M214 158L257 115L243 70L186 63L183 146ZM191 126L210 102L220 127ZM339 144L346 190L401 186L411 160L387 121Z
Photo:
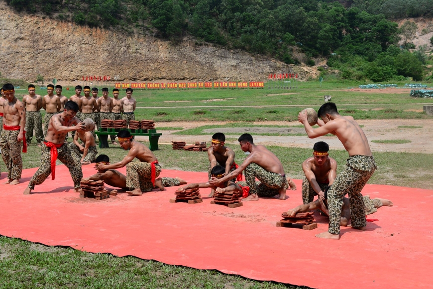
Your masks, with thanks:
M308 204L299 205L296 208L290 209L287 211L287 214L291 217L295 216L297 213L309 212L311 210L321 209L325 212L326 216L329 216L328 211L328 202L327 202L327 191L329 188L325 189L324 193L324 201L321 202L321 198L317 199L314 202L310 202ZM362 197L364 207L365 207L365 215L370 215L377 212L377 209L386 206L392 207L394 204L387 199L370 199L369 195ZM343 197L343 206L341 208L341 216L340 216L340 226L346 227L350 222L350 202L349 199Z

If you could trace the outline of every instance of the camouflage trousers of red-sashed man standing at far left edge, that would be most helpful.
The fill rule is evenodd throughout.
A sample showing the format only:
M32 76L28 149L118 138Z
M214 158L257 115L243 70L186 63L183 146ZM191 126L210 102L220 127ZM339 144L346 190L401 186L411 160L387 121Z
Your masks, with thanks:
M22 172L22 142L17 142L19 131L2 130L0 134L1 157L7 167L7 178L19 180Z

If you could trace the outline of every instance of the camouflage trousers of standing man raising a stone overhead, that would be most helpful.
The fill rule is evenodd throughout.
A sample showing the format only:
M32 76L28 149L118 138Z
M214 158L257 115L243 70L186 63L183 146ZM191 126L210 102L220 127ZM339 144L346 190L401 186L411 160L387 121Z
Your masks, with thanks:
M340 233L340 216L343 197L349 195L352 227L365 227L365 208L361 190L376 170L372 156L353 155L347 159L346 167L335 178L327 192L329 228L331 234Z

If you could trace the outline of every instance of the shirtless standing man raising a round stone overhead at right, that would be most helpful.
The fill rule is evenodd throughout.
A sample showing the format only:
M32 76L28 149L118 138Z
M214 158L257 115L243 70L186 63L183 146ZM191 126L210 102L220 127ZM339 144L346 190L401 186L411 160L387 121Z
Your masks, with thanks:
M313 129L307 121L307 113L299 113L298 120L304 124L310 139L335 134L349 153L346 167L334 180L328 191L329 228L327 232L316 235L319 238L340 238L340 217L343 197L348 193L350 214L354 229L365 230L366 220L361 190L376 170L376 162L371 153L370 145L364 132L350 116L338 114L334 103L328 102L321 106L318 117L320 126Z

